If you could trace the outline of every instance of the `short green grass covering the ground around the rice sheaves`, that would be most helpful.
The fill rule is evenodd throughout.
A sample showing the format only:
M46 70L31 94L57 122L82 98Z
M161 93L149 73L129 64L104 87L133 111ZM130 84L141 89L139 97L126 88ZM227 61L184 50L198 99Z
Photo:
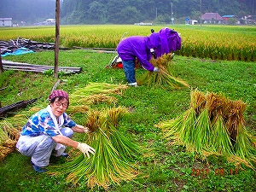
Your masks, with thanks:
M90 53L86 50L60 51L59 65L82 67L83 72L61 76L58 89L73 93L90 82L126 84L125 74L120 69L106 69L112 54ZM5 60L40 65L54 65L54 52L45 51L26 55L10 55ZM210 61L183 56L172 60L174 76L185 80L192 89L224 93L231 100L247 102L245 119L248 130L255 132L256 118L256 66L253 62ZM137 70L137 77L145 73ZM46 105L46 99L57 79L41 73L6 71L1 75L0 101L3 106L21 100L40 97L32 104ZM135 110L122 119L121 126L127 137L148 149L148 154L138 157L138 170L142 174L130 182L110 186L109 191L255 191L256 173L243 166L235 172L235 166L222 157L200 160L185 148L172 146L154 125L176 118L189 108L190 90L166 91L158 87L130 87L123 96L115 96L119 106ZM31 108L20 110L19 113ZM96 107L97 108L97 107ZM83 115L72 118L84 123ZM79 137L75 136L77 139ZM57 160L58 161L58 160ZM65 177L50 177L32 170L30 159L18 152L0 162L1 191L104 191L102 188L88 189L85 183L72 186ZM60 160L58 163L63 163ZM208 174L198 170L208 169ZM223 169L223 173L220 170ZM230 169L233 174L230 174ZM195 172L197 170L197 172ZM215 173L216 171L216 173ZM218 172L217 172L218 171ZM193 173L195 173L193 175Z

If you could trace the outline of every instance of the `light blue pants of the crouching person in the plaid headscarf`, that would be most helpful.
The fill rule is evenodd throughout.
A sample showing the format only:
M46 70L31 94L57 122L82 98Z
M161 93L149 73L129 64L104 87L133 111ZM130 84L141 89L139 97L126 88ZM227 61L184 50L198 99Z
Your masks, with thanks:
M73 137L73 130L68 127L62 128L61 133L63 136ZM55 141L47 135L37 137L20 136L16 144L20 154L31 156L31 160L36 166L48 166L51 154L61 156L66 149L66 146L63 146L63 148L55 150L55 146Z

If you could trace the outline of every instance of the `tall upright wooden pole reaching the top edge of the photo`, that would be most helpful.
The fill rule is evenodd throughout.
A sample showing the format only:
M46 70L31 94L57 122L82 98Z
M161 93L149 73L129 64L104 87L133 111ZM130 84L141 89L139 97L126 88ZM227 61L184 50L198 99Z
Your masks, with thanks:
M60 45L60 0L56 0L55 8L55 78L58 79L58 60Z

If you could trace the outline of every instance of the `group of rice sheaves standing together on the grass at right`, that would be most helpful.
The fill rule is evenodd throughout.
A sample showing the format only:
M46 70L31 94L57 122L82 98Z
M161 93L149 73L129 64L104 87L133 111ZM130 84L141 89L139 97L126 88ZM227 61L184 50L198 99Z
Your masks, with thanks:
M191 92L190 108L177 119L156 125L189 151L224 155L255 167L256 138L248 134L243 113L246 103L198 90Z

